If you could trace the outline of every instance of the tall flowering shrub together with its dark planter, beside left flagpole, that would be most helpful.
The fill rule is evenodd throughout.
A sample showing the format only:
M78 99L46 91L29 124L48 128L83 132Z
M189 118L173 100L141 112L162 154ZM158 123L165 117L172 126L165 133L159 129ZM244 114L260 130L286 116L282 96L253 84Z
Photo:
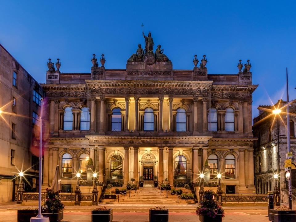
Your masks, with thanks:
M49 217L50 222L63 220L64 204L60 200L60 192L46 188L43 195L42 215Z

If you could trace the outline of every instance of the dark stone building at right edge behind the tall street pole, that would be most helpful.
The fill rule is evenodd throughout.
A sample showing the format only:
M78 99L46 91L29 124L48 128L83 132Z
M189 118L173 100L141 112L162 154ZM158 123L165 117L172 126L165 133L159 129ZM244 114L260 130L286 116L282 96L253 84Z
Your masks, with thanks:
M261 105L258 107L259 115L254 118L253 134L258 138L254 142L254 170L257 193L273 191L275 186L274 174L279 175L279 188L282 191L282 199L287 192L287 181L284 176L284 161L287 153L287 120L286 102L279 100L274 106ZM284 107L284 108L282 108ZM273 109L279 108L282 112L279 115L272 113ZM295 112L296 103L290 104L290 143L293 156L296 152L295 139ZM294 157L295 158L295 157ZM296 187L296 163L292 163L292 187Z

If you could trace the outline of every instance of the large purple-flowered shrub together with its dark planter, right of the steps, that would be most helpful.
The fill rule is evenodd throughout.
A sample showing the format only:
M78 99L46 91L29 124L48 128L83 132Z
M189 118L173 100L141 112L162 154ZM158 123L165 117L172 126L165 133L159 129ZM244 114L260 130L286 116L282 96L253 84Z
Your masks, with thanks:
M216 193L212 190L204 191L204 200L196 208L200 222L221 222L225 216L224 209L216 201Z

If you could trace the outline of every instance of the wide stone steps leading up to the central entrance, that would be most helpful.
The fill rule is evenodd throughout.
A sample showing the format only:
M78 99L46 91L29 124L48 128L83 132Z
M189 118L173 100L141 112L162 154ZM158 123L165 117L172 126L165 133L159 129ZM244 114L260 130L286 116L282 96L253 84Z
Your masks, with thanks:
M104 199L105 204L117 204L118 199ZM126 195L119 196L119 204L150 204L150 205L168 205L178 204L178 197L171 195L170 191L162 191L154 187L140 187L137 193L133 190ZM185 200L179 197L179 204L195 204L194 200Z

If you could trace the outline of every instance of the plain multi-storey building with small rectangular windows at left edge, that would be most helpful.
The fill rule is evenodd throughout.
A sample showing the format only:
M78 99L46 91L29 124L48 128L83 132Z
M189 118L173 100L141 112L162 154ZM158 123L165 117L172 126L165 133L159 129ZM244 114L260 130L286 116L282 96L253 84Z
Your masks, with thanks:
M25 191L38 188L41 86L0 44L0 203L14 200L19 171L25 171Z

